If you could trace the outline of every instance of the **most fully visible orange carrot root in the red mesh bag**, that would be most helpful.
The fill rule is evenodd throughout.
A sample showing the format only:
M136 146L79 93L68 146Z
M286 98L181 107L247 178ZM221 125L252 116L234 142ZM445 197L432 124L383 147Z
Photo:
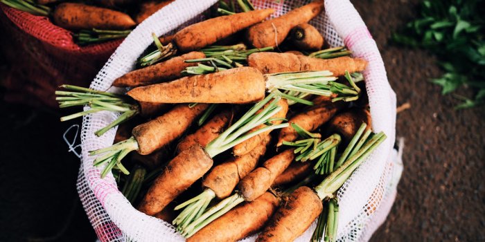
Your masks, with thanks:
M53 20L69 30L126 30L135 26L133 19L123 12L82 3L60 3L53 12Z

